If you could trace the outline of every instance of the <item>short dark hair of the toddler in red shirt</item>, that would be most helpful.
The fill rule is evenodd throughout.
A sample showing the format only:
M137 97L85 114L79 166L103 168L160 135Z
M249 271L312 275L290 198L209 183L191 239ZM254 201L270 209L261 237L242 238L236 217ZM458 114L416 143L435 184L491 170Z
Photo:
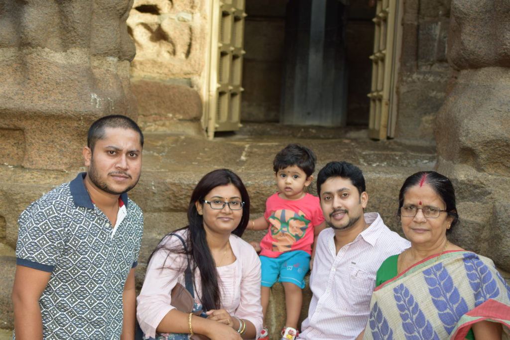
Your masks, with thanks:
M315 171L315 162L317 162L317 156L312 150L305 146L291 143L276 153L273 160L273 170L278 172L295 165L303 170L307 177L310 177Z

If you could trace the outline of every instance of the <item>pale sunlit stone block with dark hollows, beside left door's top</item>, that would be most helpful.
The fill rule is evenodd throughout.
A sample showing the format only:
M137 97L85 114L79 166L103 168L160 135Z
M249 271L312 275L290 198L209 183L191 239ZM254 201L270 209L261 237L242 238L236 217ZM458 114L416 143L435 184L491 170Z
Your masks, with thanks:
M200 76L209 40L205 5L195 1L137 1L127 27L137 54L133 76Z

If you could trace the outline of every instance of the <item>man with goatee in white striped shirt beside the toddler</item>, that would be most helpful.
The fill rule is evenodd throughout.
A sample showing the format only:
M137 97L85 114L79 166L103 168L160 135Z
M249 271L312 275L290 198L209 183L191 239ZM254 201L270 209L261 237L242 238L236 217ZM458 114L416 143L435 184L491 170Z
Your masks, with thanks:
M355 339L365 329L375 273L382 261L409 248L377 213L364 213L362 171L330 162L319 171L317 193L327 225L318 237L310 276L313 296L299 339Z

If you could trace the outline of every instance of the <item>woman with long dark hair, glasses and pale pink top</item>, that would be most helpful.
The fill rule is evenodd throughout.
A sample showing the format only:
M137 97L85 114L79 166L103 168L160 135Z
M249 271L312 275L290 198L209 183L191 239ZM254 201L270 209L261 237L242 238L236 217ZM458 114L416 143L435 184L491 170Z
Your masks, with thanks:
M260 260L241 239L249 197L230 170L214 170L198 182L188 207L189 225L167 234L152 252L138 296L137 318L144 338L183 340L192 334L212 340L251 339L262 329ZM185 285L190 264L195 307L202 317L172 306L170 292Z

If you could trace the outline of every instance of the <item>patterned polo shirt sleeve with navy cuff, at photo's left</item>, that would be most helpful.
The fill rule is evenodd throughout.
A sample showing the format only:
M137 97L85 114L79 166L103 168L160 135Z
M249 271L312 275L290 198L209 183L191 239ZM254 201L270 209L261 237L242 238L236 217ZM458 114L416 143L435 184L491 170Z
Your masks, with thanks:
M64 247L62 211L50 200L32 203L18 220L16 264L53 272Z

